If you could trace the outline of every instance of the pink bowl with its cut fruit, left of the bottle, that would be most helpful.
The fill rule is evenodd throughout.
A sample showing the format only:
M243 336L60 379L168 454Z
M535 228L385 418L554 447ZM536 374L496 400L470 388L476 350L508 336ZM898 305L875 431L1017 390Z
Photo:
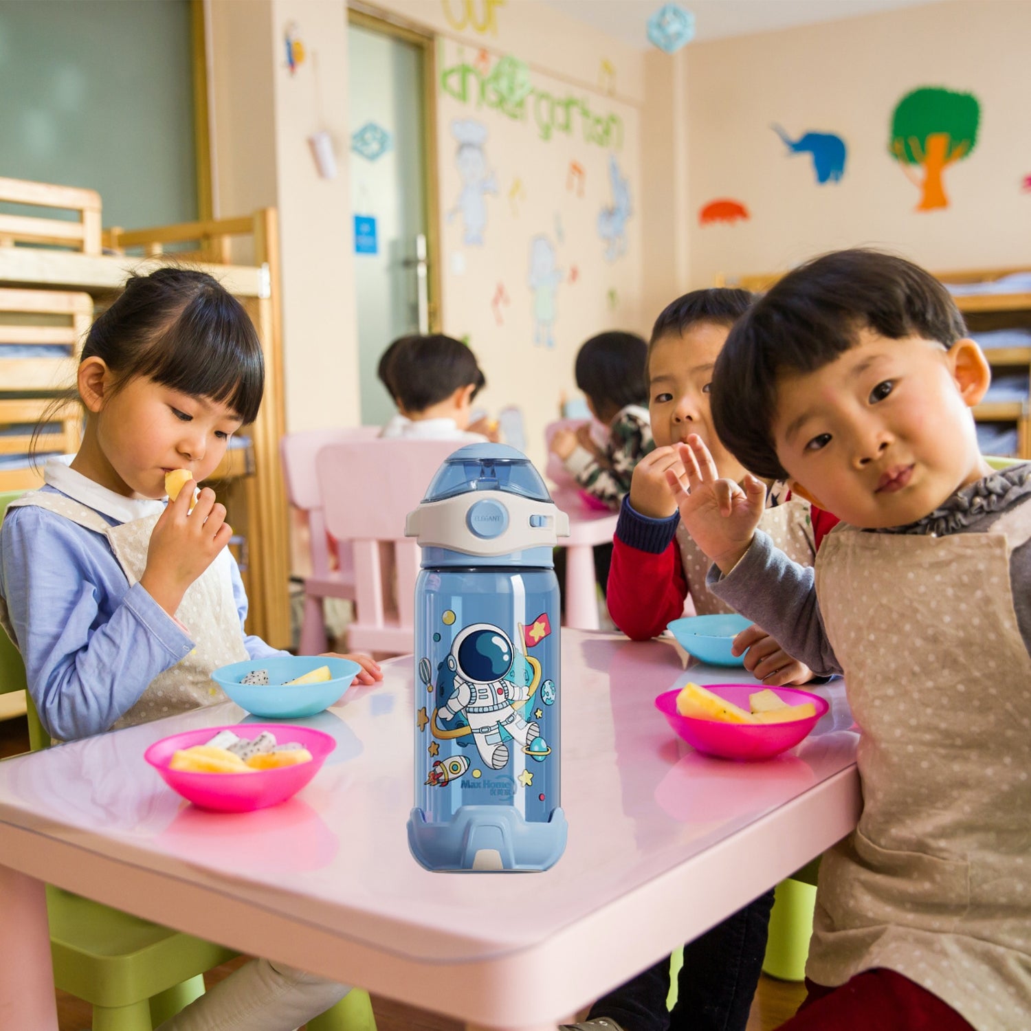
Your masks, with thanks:
M292 798L335 747L321 730L253 723L173 734L143 758L194 805L248 812Z

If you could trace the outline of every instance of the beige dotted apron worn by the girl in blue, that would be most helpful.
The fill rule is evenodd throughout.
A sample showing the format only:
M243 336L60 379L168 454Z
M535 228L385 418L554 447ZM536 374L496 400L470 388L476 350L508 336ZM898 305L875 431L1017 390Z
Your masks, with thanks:
M8 508L26 505L45 508L87 530L103 534L130 587L143 575L151 533L160 513L110 526L88 505L48 491L32 491L12 501ZM151 680L136 704L115 720L109 729L132 727L227 700L222 689L210 678L212 670L250 658L243 646L240 618L233 598L228 548L223 548L207 569L187 588L182 602L175 610L175 618L187 628L194 641L194 650ZM13 640L3 599L0 599L0 625Z

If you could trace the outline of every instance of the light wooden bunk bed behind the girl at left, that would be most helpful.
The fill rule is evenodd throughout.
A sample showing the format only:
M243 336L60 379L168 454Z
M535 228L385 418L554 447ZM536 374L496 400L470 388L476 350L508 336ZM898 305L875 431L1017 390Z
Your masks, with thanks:
M188 261L193 268L210 272L244 305L265 353L265 397L258 419L243 428L243 445L227 453L212 486L239 535L237 556L245 567L251 602L247 630L275 647L289 647L275 209L263 208L242 219L112 229L102 235L100 199L93 191L0 178L0 202L72 210L77 215L67 221L67 215L54 219L46 211L40 218L0 214L0 490L41 483L39 469L27 459L31 427L54 397L72 385L75 358L94 307L108 303L130 272L145 273L169 261ZM166 253L170 246L180 250ZM234 250L248 252L248 260L232 263ZM9 345L6 354L3 344ZM59 344L67 354L52 353ZM18 350L12 353L14 345ZM37 353L40 357L33 357ZM40 439L39 451L75 450L76 412L59 412L52 429ZM20 456L26 460L19 463Z

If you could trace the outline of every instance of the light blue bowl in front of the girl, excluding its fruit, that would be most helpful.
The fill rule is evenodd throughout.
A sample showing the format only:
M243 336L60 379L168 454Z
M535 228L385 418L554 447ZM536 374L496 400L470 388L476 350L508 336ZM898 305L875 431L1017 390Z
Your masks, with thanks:
M287 684L310 673L320 666L329 666L332 679L318 684ZM297 720L322 712L346 693L355 674L362 667L350 659L331 659L321 655L281 655L271 659L248 659L223 666L211 679L240 708L267 720ZM240 684L256 669L268 672L268 684Z

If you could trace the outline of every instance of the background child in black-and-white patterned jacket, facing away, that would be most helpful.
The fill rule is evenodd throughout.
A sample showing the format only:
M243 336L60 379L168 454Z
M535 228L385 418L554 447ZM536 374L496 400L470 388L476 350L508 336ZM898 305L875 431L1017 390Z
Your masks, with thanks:
M591 414L608 427L608 439L599 446L585 423L575 431L559 430L548 444L581 490L612 509L630 490L634 466L655 446L644 383L646 352L636 333L591 337L576 353L576 386Z

